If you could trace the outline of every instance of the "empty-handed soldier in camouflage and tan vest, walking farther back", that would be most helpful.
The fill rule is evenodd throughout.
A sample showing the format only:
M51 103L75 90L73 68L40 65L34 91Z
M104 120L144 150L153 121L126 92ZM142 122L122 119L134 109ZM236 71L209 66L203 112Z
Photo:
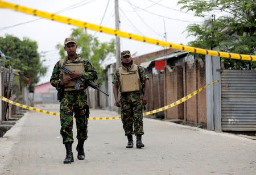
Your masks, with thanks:
M121 52L121 64L114 73L115 105L121 107L123 130L128 139L126 148L133 148L133 134L137 136L136 147L142 148L143 106L147 104L149 78L141 66L133 63L130 51ZM121 92L120 99L118 90Z

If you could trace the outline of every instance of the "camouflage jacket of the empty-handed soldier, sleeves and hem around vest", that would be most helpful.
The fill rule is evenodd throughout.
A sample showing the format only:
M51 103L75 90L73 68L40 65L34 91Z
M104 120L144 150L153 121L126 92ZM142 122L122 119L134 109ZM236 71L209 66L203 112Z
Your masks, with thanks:
M144 82L149 79L145 70L142 68L142 66L139 66L139 73L141 74L141 82L142 82L142 86L144 84ZM118 86L120 87L120 82L119 82L119 70L117 69L114 73L114 77L113 77L113 84L118 84ZM119 89L120 90L120 89ZM135 101L139 101L143 98L143 94L141 91L131 91L131 92L127 92L127 93L121 93L121 97L120 100L121 101L127 101L127 102L135 102Z

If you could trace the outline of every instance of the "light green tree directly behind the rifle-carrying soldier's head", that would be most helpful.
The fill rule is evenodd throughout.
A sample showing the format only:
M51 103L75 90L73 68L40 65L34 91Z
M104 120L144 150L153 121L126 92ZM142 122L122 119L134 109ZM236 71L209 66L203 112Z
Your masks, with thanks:
M102 70L102 61L104 61L108 56L115 54L114 39L109 42L100 43L97 38L92 35L87 34L82 28L73 28L71 36L76 39L77 42L77 52L80 55L92 62L93 66L98 72L98 84L101 84L102 77L104 76ZM61 59L65 57L65 50L63 44L57 44L56 48L60 49L59 53Z

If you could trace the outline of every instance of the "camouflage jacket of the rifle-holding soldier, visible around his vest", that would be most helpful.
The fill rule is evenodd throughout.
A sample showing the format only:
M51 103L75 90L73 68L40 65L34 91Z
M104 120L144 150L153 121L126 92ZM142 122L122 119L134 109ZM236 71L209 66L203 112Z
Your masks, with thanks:
M78 56L77 56L78 57ZM72 62L76 62L76 59L73 60ZM60 61L58 61L53 70L52 70L52 76L51 76L51 85L56 87L56 89L59 89L60 87L60 69L61 65L60 65ZM88 60L84 60L84 69L85 72L82 72L82 79L84 81L93 81L93 80L97 80L98 78L98 74L96 72L96 69L93 67L92 63ZM86 88L86 86L85 86Z

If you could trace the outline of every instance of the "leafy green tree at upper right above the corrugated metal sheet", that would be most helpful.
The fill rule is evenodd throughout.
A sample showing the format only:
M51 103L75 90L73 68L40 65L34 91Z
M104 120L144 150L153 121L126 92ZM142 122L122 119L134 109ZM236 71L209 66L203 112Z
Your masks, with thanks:
M220 51L255 55L256 47L256 2L254 0L180 0L181 9L195 12L195 16L221 12L223 14L213 22L205 20L203 25L187 26L189 36L196 36L188 44L193 47L210 49L216 46ZM225 68L255 69L256 63L221 58Z

